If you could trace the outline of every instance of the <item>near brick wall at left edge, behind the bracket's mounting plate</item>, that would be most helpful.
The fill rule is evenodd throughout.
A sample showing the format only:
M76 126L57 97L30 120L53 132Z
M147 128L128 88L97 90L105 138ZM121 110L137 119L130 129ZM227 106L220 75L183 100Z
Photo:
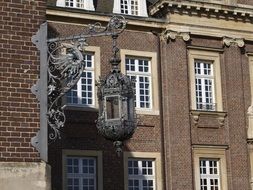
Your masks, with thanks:
M39 105L30 88L39 73L31 42L45 21L45 1L0 2L0 161L36 161L31 137L39 128Z

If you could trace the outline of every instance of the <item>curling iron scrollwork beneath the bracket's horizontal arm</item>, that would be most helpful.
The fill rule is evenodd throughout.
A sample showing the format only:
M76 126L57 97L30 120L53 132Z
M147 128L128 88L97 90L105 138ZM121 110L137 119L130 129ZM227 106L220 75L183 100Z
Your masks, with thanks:
M49 140L60 137L65 115L61 107L61 97L80 79L85 67L83 49L85 39L75 42L48 44L48 124L51 127Z

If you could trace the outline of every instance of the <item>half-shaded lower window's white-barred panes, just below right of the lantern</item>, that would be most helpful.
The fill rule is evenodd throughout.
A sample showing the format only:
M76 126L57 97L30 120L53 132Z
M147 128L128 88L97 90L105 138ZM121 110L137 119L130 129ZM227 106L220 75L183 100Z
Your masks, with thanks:
M128 190L155 190L155 170L152 160L128 160Z

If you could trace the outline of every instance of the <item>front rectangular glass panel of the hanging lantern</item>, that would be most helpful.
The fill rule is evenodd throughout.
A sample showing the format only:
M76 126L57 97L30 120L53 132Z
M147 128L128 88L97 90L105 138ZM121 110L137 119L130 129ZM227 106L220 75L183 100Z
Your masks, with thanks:
M120 98L119 96L105 97L105 110L106 119L119 119L120 118Z

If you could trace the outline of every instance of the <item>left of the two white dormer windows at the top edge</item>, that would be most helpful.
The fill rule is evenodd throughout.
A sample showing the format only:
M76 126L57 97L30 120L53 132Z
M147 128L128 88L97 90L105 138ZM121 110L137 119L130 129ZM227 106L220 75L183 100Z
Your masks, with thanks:
M95 10L93 0L57 0L56 6Z

